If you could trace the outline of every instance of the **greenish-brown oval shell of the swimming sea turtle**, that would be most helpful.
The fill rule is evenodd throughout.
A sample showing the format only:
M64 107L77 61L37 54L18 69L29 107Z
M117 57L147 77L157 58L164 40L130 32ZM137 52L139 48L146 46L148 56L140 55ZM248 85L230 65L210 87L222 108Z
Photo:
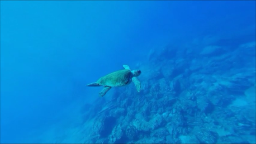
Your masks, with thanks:
M102 76L97 83L103 86L118 87L131 82L132 73L130 70L118 70L108 75Z

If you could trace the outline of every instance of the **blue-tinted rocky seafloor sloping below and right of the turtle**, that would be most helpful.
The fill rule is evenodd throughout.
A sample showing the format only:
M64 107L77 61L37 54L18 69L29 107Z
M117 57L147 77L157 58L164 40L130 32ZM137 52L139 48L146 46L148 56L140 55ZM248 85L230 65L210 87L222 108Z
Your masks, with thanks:
M85 104L84 143L255 143L255 41L192 46L131 68L140 93L130 84Z

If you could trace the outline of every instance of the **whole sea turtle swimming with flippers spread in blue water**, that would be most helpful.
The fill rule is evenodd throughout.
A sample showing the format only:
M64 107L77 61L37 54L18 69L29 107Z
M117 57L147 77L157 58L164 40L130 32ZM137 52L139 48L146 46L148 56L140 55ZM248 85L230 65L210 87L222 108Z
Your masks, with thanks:
M104 86L104 88L99 92L99 95L103 97L111 87L119 87L123 85L130 84L131 81L134 82L136 89L140 92L140 81L137 76L141 74L140 70L131 70L128 65L123 65L124 70L118 70L108 75L102 76L96 82L87 84L88 87L99 87Z

